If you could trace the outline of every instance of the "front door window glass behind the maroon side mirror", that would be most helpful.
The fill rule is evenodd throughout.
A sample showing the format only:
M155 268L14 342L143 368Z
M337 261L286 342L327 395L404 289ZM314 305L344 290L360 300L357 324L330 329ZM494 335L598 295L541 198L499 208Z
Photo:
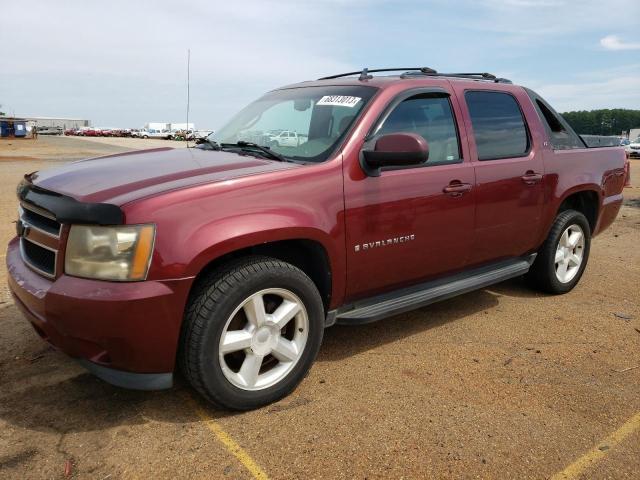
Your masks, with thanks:
M449 97L418 95L401 102L385 119L376 136L417 133L429 144L427 165L460 160L456 123Z

